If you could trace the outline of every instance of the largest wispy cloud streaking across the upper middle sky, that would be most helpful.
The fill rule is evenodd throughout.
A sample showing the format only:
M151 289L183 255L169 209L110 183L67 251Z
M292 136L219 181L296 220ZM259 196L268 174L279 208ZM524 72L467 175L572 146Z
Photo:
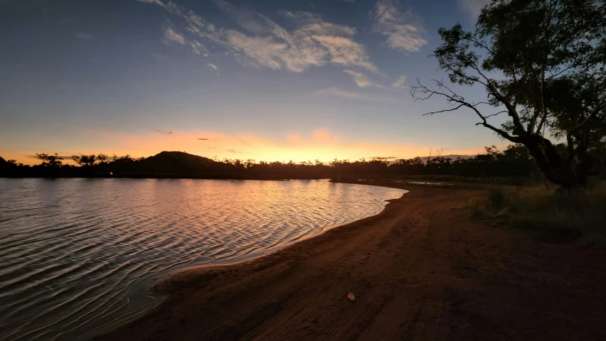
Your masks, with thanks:
M184 21L188 35L226 48L227 55L232 55L242 65L303 72L309 67L333 63L378 72L378 67L366 54L366 48L353 40L355 28L326 22L313 13L280 11L296 24L294 29L287 30L256 11L216 0L218 8L243 28L236 30L217 28L197 13L173 2L166 5L159 0L142 2L163 6ZM164 36L191 48L191 41L197 41L172 28L167 28Z

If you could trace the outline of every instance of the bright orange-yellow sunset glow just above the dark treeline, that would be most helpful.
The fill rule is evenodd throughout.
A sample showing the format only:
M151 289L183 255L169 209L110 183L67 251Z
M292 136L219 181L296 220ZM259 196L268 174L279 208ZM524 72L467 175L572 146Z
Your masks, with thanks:
M107 141L107 135L105 135ZM148 132L139 136L127 136L125 134L113 134L110 139L109 148L102 150L87 149L79 151L74 148L57 148L56 151L43 150L22 153L0 153L6 160L15 159L24 164L38 164L38 159L31 156L36 152L58 153L66 157L66 163L72 163L71 155L105 153L108 156L129 154L132 157L154 156L161 151L185 151L207 158L231 159L253 159L255 161L315 161L328 162L338 158L356 161L361 158L414 158L415 156L427 156L430 146L414 146L407 144L381 144L368 141L343 141L340 136L331 134L327 129L317 129L311 134L285 133L282 141L271 141L254 135L228 136L216 132L201 131L187 133L161 133ZM499 146L500 147L500 146ZM433 147L433 155L435 150ZM483 153L484 148L474 149L448 149L445 154L476 155ZM30 157L28 157L30 156Z

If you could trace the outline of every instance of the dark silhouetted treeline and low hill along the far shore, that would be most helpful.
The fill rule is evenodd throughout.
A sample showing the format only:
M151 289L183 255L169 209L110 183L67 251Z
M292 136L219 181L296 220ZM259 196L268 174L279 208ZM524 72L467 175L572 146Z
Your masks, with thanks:
M565 153L566 147L558 145ZM58 154L39 153L41 163L26 166L14 160L0 158L0 175L15 178L213 178L213 179L351 179L398 178L409 175L456 175L462 178L536 176L538 168L528 149L511 145L505 151L495 146L486 153L470 158L430 156L388 162L384 158L371 160L337 160L329 163L307 161L295 163L256 162L254 160L214 161L179 151L163 151L149 158L126 156L72 156L78 165L65 164ZM604 173L603 156L595 158L592 174Z

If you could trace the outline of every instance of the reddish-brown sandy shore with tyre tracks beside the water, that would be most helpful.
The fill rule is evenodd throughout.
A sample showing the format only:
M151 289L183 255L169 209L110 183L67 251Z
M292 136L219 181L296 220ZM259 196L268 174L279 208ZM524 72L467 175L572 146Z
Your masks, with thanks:
M97 340L606 337L604 254L467 219L481 190L404 186L380 215L159 281L164 303Z

